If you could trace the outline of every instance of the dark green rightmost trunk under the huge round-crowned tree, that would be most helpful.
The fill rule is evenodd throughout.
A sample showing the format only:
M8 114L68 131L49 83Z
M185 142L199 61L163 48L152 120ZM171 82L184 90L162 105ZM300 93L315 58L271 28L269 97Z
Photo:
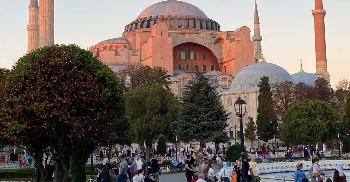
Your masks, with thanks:
M93 152L93 146L90 145L78 145L72 149L70 156L71 161L71 173L74 182L86 182L85 166L89 154Z

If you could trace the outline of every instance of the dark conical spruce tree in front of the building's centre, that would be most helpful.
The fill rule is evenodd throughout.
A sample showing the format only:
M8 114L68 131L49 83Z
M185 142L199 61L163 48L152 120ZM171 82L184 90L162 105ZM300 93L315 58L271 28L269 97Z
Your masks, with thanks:
M204 143L225 143L229 141L224 131L229 114L221 105L216 88L208 82L203 73L196 74L196 81L188 86L179 114L178 134L182 141L197 140Z

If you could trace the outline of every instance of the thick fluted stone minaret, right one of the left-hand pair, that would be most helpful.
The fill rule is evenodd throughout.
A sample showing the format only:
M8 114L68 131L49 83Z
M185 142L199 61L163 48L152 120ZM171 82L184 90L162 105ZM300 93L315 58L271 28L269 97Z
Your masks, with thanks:
M40 0L39 47L54 44L54 0Z

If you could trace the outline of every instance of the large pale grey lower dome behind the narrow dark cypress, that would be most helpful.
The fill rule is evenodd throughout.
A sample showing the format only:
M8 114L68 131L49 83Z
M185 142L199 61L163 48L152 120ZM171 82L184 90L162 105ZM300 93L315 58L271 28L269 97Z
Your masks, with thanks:
M271 88L276 83L284 81L294 82L293 77L282 67L272 63L258 62L238 72L232 81L230 91L259 90L258 84L263 76L268 76Z

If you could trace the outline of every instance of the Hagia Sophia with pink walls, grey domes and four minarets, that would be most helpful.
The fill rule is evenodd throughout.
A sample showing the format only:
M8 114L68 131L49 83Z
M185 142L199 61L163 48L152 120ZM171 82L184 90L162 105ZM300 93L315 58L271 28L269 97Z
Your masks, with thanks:
M196 79L196 72L203 72L209 82L217 86L222 104L229 113L226 131L232 142L239 138L237 132L240 130L233 103L239 96L247 103L243 127L248 117L255 121L261 77L268 76L271 87L286 80L313 84L317 78L324 78L329 82L322 0L315 0L312 14L315 20L315 73L304 72L301 64L300 71L290 75L280 66L266 62L261 51L256 1L252 14L253 36L246 26L223 31L216 20L210 19L198 7L183 1L166 0L143 10L125 26L121 37L101 41L89 50L114 72L127 71L135 63L165 68L172 75L168 80L172 82L171 89L179 97L186 96L186 86L189 80ZM38 0L30 0L27 30L28 52L54 44L54 0L40 0L40 4ZM262 142L246 140L245 145L256 146Z

